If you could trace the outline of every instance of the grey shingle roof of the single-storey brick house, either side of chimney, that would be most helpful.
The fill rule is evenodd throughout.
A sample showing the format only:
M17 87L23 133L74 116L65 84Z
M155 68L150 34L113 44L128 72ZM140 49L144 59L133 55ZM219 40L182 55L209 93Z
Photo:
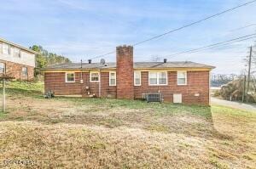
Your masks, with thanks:
M83 70L95 70L95 69L115 69L116 63L107 63L102 65L100 63L83 63ZM184 62L135 62L133 65L134 69L169 69L169 68L205 68L205 69L214 69L212 65L204 65L190 61ZM43 70L80 70L81 63L68 63L61 65L51 65Z

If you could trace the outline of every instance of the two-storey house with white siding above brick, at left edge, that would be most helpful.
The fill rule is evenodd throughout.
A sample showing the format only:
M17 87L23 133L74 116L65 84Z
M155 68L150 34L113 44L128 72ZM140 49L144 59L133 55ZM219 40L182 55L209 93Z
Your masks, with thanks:
M0 76L4 73L17 80L32 80L35 52L0 38Z

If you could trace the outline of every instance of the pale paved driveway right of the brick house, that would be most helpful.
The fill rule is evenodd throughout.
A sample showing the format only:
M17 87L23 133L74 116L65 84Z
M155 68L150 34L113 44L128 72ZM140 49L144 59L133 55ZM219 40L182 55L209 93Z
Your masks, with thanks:
M211 102L212 104L224 105L224 106L232 107L235 109L253 111L256 113L256 104L242 104L238 102L231 102L228 100L216 99L216 98L211 98Z

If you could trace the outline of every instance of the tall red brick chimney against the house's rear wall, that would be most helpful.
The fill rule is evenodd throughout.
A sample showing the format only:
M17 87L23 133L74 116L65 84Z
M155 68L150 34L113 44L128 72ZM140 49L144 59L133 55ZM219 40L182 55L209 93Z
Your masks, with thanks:
M116 48L116 87L118 99L134 99L133 47Z

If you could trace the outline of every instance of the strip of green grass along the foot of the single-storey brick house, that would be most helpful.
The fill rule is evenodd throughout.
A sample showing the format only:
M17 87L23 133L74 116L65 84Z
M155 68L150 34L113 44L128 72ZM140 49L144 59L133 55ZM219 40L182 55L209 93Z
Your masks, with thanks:
M177 115L192 114L201 115L207 118L211 117L211 108L201 105L184 105L170 103L147 103L143 100L126 100L126 99L81 99L81 98L55 98L61 101L72 101L78 105L101 105L105 109L127 108L133 110L148 110L156 112L158 115Z

